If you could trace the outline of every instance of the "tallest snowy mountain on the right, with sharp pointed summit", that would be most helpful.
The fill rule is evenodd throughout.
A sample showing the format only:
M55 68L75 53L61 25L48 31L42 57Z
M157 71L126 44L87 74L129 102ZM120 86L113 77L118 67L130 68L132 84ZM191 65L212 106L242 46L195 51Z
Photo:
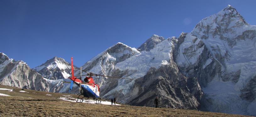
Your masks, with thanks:
M256 26L228 5L179 38L174 59L184 75L199 79L201 110L256 115Z

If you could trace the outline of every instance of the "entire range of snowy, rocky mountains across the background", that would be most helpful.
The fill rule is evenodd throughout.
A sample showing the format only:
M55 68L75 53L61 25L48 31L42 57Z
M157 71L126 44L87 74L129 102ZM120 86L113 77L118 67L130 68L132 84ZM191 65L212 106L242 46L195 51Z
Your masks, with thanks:
M86 62L101 97L124 104L256 115L256 26L230 5L202 19L190 33L171 38L153 35L139 48L117 43ZM68 92L63 84L71 67L54 57L30 69L0 53L0 84ZM86 74L86 73L83 73ZM78 69L75 75L80 75ZM79 93L77 87L71 93Z

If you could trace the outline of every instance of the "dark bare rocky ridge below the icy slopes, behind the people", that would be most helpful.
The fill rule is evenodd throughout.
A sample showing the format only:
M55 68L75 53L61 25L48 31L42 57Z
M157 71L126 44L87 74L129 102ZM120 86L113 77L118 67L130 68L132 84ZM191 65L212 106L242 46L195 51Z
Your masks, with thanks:
M152 107L157 96L161 107L197 109L203 94L198 80L188 79L176 70L169 65L151 68L144 77L135 80L128 104Z

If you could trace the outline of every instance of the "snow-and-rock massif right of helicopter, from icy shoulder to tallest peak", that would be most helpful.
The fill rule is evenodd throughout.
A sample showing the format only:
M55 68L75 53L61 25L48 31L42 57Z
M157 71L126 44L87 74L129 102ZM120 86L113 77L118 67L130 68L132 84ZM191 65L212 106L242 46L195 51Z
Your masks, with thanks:
M191 33L152 44L112 66L107 75L134 80L105 79L101 96L152 106L158 95L164 107L195 109L201 104L205 111L255 115L255 37L255 26L227 6Z

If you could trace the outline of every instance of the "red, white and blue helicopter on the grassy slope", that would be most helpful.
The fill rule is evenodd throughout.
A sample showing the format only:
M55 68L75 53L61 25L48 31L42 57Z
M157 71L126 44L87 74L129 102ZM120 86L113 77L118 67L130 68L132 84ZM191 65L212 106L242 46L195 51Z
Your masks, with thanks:
M87 73L86 75L82 75L82 72ZM121 78L121 77L113 77L113 76L106 76L106 75L99 75L99 74L94 74L92 72L87 72L80 67L80 77L79 76L74 76L74 65L73 65L73 57L71 57L71 77L69 79L71 80L70 82L65 82L64 83L70 83L70 90L73 88L73 84L75 83L77 86L79 86L80 90L80 95L77 98L77 101L80 99L79 102L83 102L83 98L90 98L92 97L93 99L98 99L100 98L100 87L98 84L95 84L93 77L92 76L103 76L103 77L108 77L108 78L118 78L118 79L129 79L129 78ZM84 81L82 80L82 76L86 76L84 78ZM78 78L79 77L79 78ZM130 79L132 80L132 79ZM83 96L82 98L79 98L80 96Z

